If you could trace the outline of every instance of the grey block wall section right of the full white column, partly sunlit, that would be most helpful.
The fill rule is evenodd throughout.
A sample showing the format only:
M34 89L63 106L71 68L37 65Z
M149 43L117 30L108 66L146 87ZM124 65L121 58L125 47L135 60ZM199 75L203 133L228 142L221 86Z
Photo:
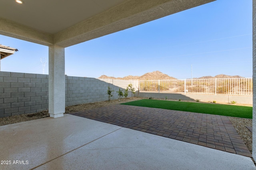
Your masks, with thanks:
M97 79L87 77L66 76L66 106L108 100L108 86L114 90L111 99L118 99L116 91L126 89L133 80ZM137 80L138 82L138 80ZM131 92L128 93L128 97Z

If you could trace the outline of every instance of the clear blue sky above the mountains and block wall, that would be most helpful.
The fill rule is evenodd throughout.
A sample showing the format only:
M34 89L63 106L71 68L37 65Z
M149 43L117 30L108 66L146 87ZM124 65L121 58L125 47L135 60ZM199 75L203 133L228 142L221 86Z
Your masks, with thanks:
M217 74L252 77L252 0L217 0L67 47L68 76L141 76L159 70L184 79ZM17 48L1 71L42 74L48 47L0 35ZM48 74L46 63L45 74Z

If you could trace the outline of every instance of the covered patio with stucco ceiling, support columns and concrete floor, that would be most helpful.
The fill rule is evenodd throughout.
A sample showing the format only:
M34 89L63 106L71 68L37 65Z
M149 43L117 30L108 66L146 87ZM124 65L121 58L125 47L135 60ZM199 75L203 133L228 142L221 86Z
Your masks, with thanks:
M3 169L256 169L250 157L64 115L66 47L214 0L1 2L0 34L49 47L50 117L0 127ZM58 3L57 3L58 2ZM256 0L253 81L256 92ZM22 15L20 15L22 14ZM90 64L90 63L88 63ZM255 95L253 97L256 104ZM253 154L256 158L256 109ZM57 118L57 119L52 119ZM18 164L13 161L21 161ZM28 163L26 162L28 161Z

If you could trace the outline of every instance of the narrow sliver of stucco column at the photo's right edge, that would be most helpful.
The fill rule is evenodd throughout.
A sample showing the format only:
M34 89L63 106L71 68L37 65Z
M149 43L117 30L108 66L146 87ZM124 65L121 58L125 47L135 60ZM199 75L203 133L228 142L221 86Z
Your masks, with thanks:
M256 0L252 1L252 157L256 160Z

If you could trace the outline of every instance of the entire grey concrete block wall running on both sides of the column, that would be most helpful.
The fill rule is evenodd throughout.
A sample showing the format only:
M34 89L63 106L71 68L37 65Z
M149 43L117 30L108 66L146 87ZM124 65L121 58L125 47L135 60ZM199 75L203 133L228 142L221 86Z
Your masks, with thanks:
M126 89L133 80L108 80L65 76L65 105L108 100L108 86L116 91ZM131 96L131 92L128 93ZM0 72L0 117L35 113L48 109L48 75Z

